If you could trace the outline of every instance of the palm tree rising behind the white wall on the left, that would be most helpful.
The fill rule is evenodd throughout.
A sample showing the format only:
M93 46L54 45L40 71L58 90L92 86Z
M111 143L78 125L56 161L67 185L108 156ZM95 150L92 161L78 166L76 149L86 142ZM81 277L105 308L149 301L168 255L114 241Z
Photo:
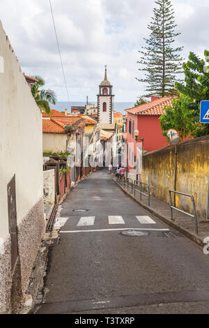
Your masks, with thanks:
M49 103L52 103L53 105L56 104L56 94L50 89L40 90L40 87L45 85L45 80L43 80L42 77L38 75L33 75L32 77L38 80L38 82L35 82L33 87L31 87L33 98L35 99L38 107L41 110L44 110L47 115L49 115L51 113Z

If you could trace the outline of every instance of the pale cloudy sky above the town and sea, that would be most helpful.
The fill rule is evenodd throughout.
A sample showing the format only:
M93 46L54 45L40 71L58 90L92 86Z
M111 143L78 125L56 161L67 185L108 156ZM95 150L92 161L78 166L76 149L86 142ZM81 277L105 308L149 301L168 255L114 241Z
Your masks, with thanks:
M107 77L115 101L135 101L145 85L136 80L139 50L148 37L154 0L51 0L70 101L96 100ZM209 50L209 1L173 0L176 45L203 57ZM68 96L63 80L49 0L0 0L0 20L26 75L40 75L57 100Z

